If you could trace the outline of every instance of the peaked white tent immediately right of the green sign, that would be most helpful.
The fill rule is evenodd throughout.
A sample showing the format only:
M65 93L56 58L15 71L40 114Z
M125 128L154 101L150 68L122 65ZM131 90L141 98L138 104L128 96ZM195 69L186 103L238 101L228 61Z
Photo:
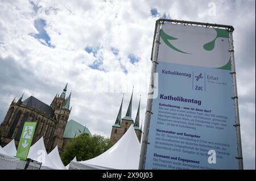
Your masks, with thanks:
M43 137L41 137L34 145L31 146L27 158L31 158L35 161L41 162L42 170L57 170L57 167L52 163L49 155L47 154L46 148L44 147Z

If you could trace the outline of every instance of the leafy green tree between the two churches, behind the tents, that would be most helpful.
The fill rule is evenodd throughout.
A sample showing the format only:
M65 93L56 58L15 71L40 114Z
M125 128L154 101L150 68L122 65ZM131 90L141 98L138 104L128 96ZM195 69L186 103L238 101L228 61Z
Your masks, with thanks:
M87 133L80 134L73 138L71 142L65 146L61 159L64 165L68 165L74 157L77 161L85 161L97 157L113 146L113 142L109 138L94 134L92 137Z

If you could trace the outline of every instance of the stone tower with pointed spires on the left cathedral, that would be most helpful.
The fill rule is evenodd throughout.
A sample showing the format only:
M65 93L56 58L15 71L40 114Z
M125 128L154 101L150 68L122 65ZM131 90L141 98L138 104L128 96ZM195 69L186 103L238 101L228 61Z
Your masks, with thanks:
M55 148L55 146L57 145L60 152L63 151L63 133L68 122L69 114L72 110L72 108L69 109L71 93L68 97L66 97L67 86L68 83L64 87L61 95L56 94L55 98L51 103L52 110L55 114L55 119L57 120L56 131L53 134L51 149Z

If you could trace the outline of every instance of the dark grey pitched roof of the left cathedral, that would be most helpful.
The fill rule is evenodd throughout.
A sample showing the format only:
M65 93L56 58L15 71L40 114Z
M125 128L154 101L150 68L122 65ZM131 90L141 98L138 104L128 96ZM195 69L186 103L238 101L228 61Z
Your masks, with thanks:
M29 106L31 108L35 108L36 110L45 113L49 117L54 116L54 112L51 106L48 106L46 103L43 103L41 100L36 99L34 96L30 96L22 102L22 105Z

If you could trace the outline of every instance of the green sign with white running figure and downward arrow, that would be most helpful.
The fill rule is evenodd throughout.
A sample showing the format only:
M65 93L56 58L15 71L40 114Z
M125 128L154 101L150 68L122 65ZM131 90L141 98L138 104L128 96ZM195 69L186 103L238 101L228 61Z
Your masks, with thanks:
M16 157L20 159L27 159L28 151L34 137L36 129L36 122L25 122L22 130L22 135L19 140L19 146L16 153Z

